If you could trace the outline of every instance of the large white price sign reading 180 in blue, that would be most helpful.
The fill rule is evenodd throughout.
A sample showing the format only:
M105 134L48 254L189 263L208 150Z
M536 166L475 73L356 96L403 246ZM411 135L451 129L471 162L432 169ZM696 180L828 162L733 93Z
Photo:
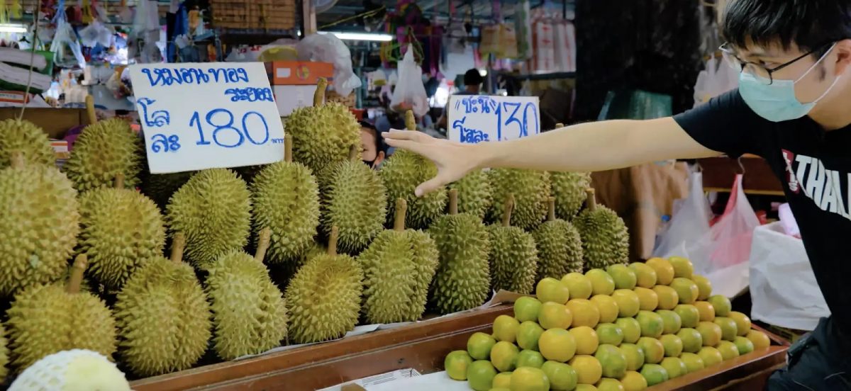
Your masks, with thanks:
M130 65L151 173L283 160L262 63Z

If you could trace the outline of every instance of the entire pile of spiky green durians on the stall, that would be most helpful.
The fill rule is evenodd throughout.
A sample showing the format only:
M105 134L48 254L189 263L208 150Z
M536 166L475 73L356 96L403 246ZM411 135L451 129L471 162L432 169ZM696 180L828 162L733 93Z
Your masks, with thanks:
M364 165L324 88L285 120L283 161L238 173L145 173L117 119L86 127L60 171L42 129L0 122L0 384L74 348L157 376L627 262L588 173L485 169L416 197L431 161Z

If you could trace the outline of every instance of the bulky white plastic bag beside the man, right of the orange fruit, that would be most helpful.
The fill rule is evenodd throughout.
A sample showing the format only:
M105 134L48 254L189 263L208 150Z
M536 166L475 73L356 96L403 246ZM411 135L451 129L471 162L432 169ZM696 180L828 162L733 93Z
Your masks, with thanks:
M753 233L751 319L810 331L831 314L800 239L772 223Z

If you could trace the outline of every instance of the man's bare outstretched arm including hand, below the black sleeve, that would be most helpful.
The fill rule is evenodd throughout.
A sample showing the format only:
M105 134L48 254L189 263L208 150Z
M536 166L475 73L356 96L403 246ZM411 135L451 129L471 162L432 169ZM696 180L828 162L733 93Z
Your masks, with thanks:
M387 144L411 150L437 165L437 177L420 184L417 195L482 167L602 171L648 161L721 155L692 139L671 117L588 122L499 143L460 144L396 130L385 133L385 138Z

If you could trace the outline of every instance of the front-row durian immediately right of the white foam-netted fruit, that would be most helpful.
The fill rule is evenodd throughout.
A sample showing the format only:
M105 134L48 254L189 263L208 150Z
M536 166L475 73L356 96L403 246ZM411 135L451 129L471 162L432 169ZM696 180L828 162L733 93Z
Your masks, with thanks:
M175 235L171 259L147 259L118 293L118 354L140 377L188 369L207 350L209 304L195 270L182 262L185 242Z

